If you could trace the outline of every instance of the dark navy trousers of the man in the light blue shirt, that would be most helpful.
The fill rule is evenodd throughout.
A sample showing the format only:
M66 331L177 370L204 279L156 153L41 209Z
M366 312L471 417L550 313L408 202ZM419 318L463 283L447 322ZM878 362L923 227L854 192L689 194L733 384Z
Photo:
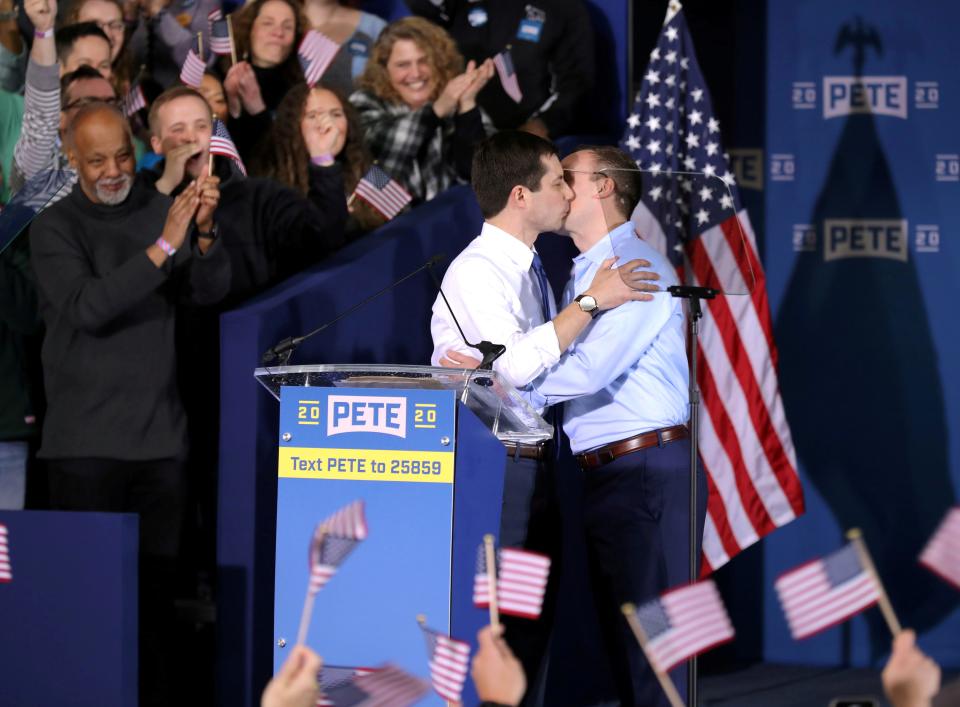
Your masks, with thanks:
M584 474L590 581L620 704L668 707L666 695L620 610L689 580L690 441L668 442ZM697 553L707 484L697 473ZM670 673L686 696L686 665Z

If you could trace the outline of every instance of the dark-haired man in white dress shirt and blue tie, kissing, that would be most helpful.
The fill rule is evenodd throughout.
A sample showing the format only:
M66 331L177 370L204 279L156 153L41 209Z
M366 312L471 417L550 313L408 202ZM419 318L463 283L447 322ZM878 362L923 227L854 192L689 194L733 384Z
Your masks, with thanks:
M632 260L612 268L615 258L610 258L576 301L558 312L533 247L540 233L559 230L573 199L555 148L528 133L501 132L477 147L471 174L483 228L450 264L442 287L467 341L506 347L493 368L508 383L522 387L553 367L600 311L649 300L646 291L659 289L648 282L656 274L634 272L649 262ZM430 326L433 365L458 352L477 355L461 338L450 309L438 296ZM559 574L553 454L549 444L505 446L500 544L542 552L555 563L540 619L504 621L507 643L523 664L528 684L535 686L549 641L553 580Z

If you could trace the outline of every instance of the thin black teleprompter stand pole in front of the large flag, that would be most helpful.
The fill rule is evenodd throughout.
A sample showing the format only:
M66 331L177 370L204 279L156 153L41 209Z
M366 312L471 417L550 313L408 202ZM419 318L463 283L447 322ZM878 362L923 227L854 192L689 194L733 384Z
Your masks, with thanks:
M703 317L700 300L713 299L720 294L720 291L712 287L674 285L668 287L667 292L673 297L685 299L690 303L690 582L692 584L700 576L700 548L697 542L697 461L700 455L700 385L697 383L697 369L699 367L697 337L700 334L700 319ZM697 705L697 656L693 656L687 662L687 704L691 707Z

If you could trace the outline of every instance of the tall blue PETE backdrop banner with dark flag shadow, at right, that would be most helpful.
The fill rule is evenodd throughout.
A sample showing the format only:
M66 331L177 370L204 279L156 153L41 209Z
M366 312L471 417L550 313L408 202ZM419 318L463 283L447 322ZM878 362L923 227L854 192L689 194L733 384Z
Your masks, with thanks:
M889 652L875 609L791 640L770 588L856 526L901 623L956 667L958 595L917 557L960 481L960 5L768 13L764 265L808 511L764 542L764 658Z

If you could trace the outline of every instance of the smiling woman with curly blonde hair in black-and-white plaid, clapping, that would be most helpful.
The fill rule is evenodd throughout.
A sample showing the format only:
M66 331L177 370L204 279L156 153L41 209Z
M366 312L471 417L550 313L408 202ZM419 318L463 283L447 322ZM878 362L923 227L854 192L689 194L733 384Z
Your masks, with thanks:
M470 178L474 145L485 137L477 93L493 62L463 57L445 30L405 17L380 34L350 102L380 166L416 201Z

